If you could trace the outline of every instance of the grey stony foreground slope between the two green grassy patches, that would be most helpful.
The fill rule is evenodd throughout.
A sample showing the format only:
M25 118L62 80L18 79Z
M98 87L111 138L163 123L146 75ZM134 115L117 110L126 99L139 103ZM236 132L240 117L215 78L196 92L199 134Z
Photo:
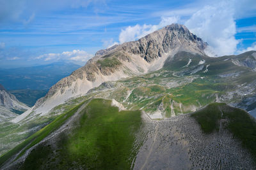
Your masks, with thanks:
M164 120L147 118L138 141L143 145L134 169L256 168L250 153L230 132L220 129L204 134L189 114Z

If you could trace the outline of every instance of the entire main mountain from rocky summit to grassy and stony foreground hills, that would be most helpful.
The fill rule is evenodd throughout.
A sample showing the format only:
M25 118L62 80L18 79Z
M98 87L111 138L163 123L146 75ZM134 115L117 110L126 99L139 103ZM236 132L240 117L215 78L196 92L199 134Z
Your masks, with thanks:
M172 24L100 50L0 124L2 169L255 169L256 52Z

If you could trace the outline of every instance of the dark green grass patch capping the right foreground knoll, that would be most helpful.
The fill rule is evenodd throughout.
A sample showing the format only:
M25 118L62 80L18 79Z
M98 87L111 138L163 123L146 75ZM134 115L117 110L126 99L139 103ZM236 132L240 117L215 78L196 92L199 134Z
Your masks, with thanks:
M234 134L234 137L241 140L243 146L252 153L256 160L256 122L246 111L232 108L225 103L213 103L196 111L191 117L196 119L205 133L211 133L218 131L221 111L223 112L222 118L228 120L226 128Z

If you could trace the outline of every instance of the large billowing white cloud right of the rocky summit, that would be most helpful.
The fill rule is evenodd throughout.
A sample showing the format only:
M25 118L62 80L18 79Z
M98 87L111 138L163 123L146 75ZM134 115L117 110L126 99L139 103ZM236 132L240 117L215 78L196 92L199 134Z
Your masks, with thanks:
M204 6L185 22L186 27L209 43L210 50L218 56L234 54L239 43L234 36L234 9L227 6L232 5L222 2L214 6Z

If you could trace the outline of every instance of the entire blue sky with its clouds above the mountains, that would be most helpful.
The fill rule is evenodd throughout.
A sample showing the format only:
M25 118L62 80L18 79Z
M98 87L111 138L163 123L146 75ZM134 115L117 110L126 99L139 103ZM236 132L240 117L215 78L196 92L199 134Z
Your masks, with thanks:
M0 67L58 60L84 65L97 50L172 23L207 41L209 55L256 50L251 0L0 0Z

